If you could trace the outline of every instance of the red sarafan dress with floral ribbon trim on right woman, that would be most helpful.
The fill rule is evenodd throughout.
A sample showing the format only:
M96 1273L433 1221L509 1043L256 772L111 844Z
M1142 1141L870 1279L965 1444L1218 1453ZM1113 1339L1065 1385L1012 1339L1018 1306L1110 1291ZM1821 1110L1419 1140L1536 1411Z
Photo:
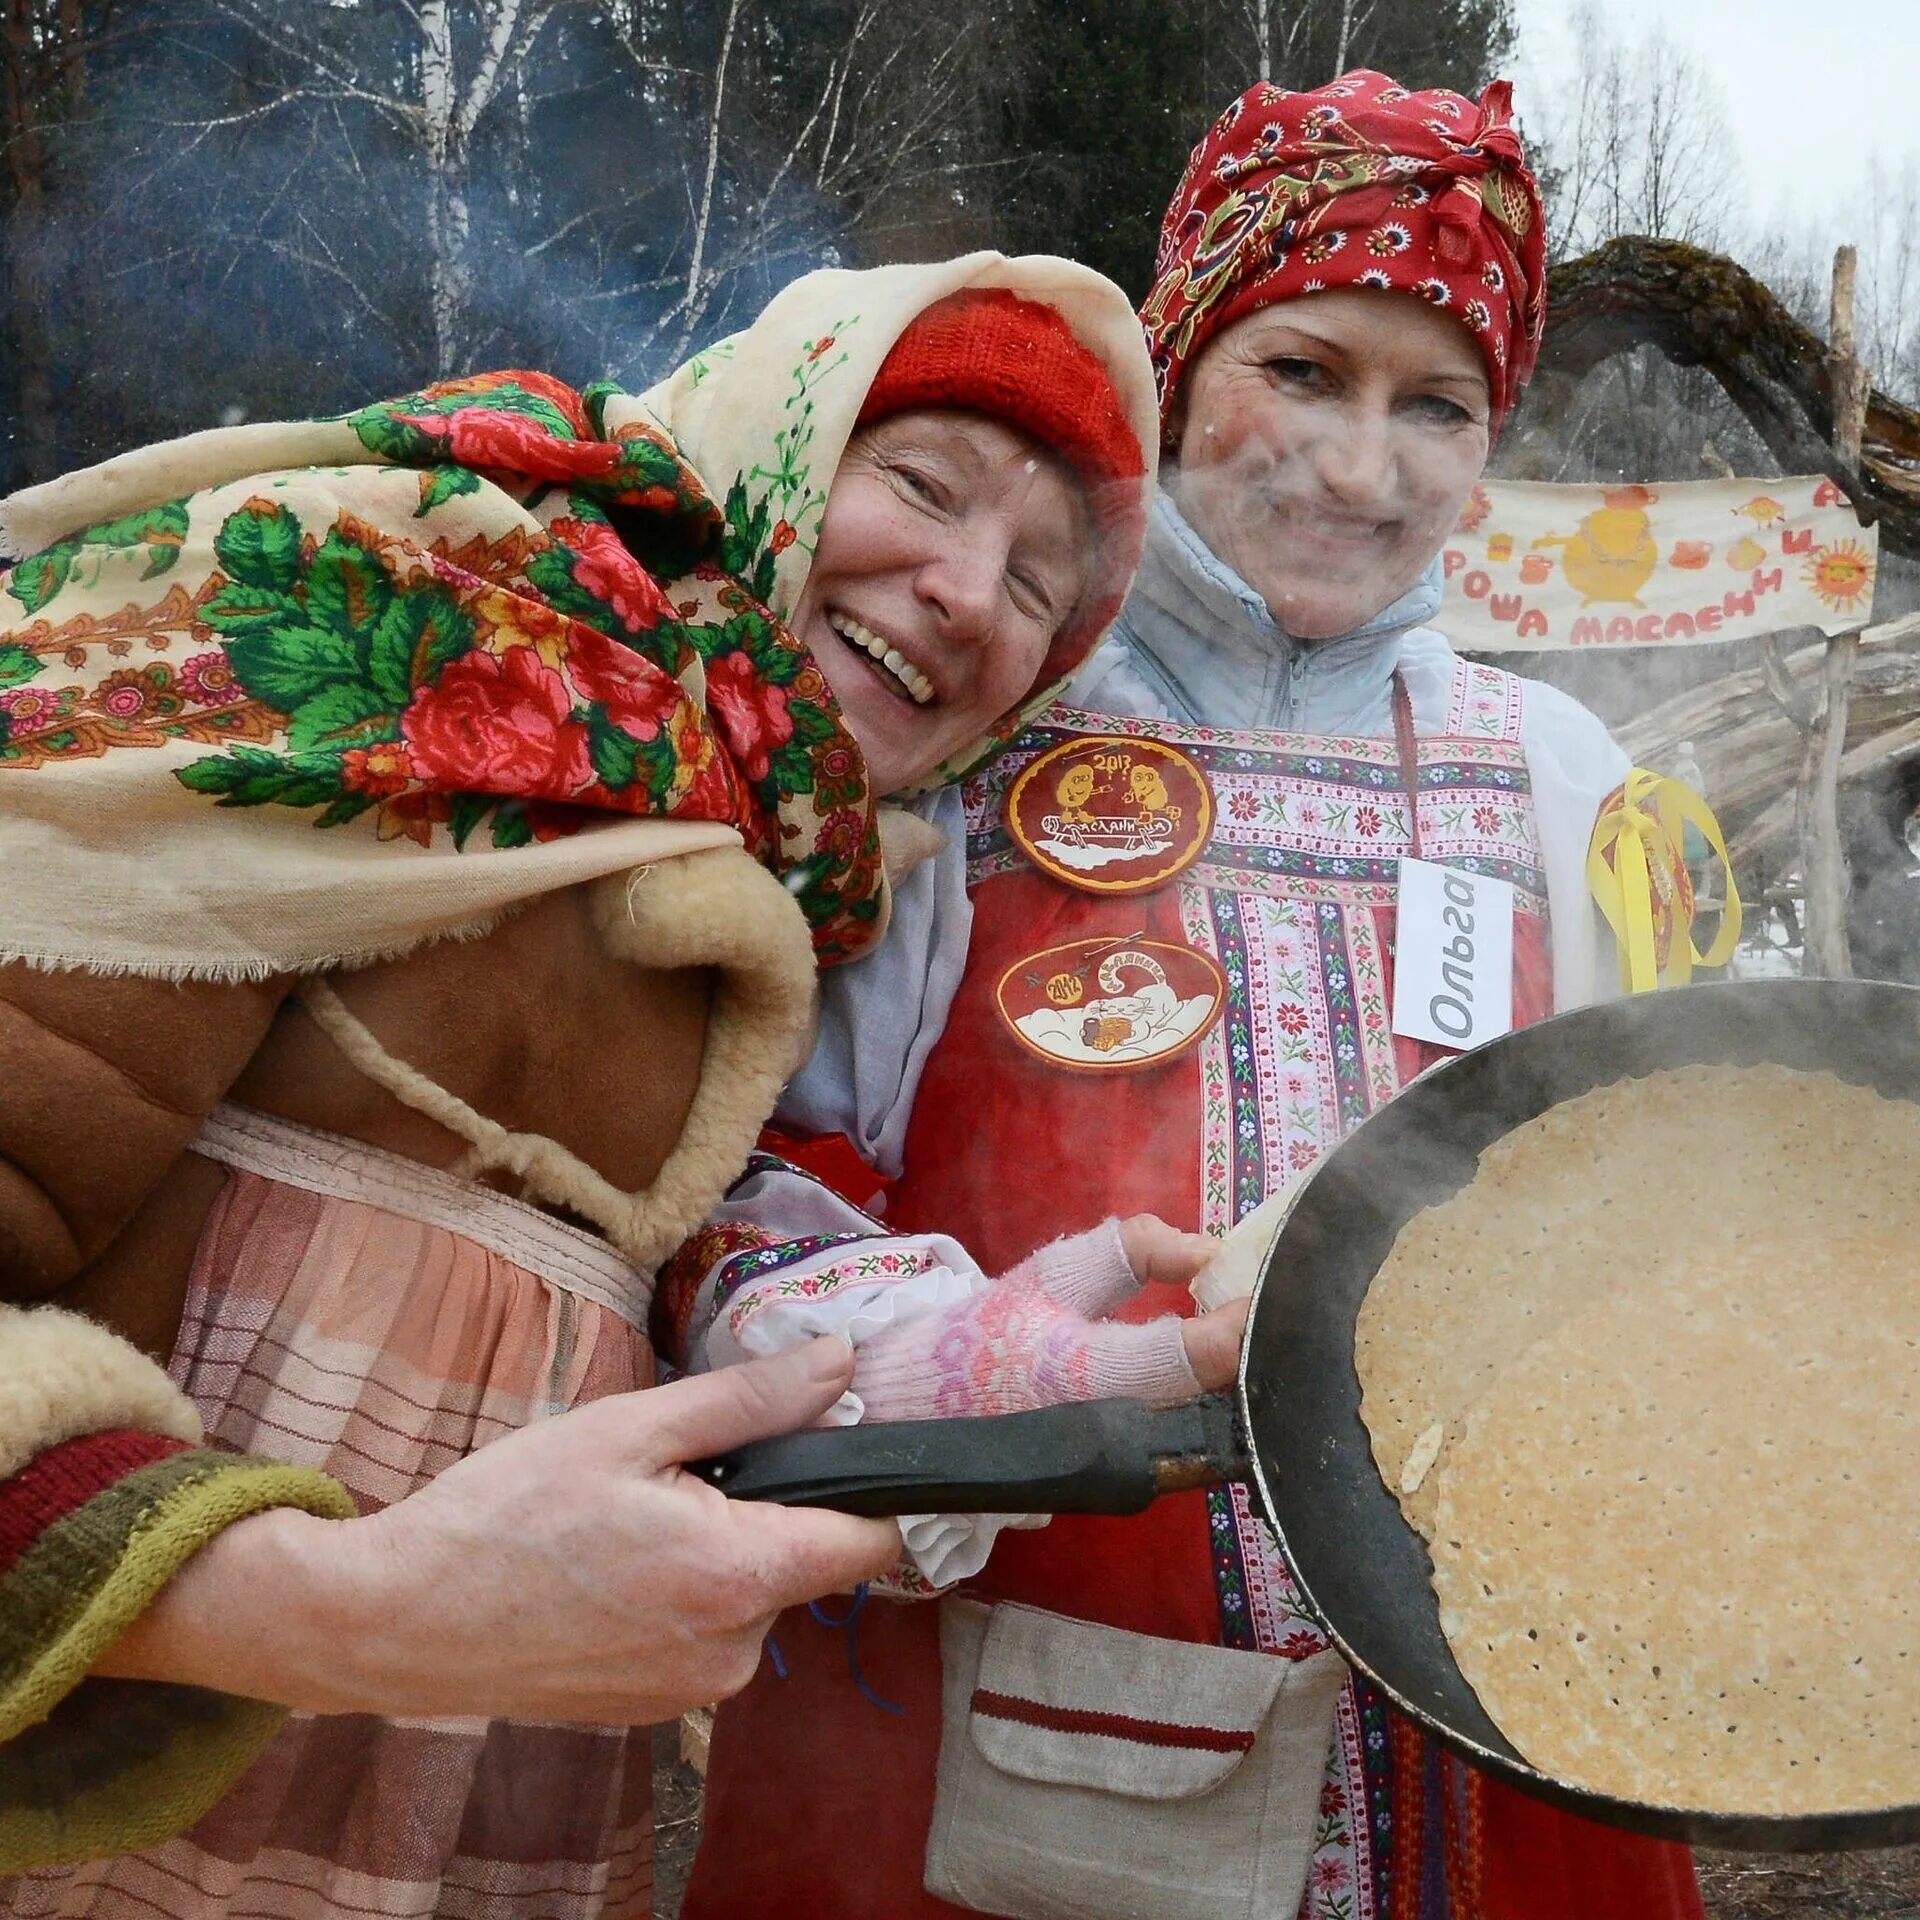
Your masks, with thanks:
M1390 1031L1409 793L1427 860L1515 885L1515 1021L1548 1014L1526 684L1453 662L1442 685L1444 724L1428 716L1428 737L1402 745L1056 707L975 776L968 972L918 1092L893 1225L950 1235L993 1273L1102 1213L1219 1233L1309 1169L1434 1058ZM1064 885L1008 833L1021 770L1096 735L1119 753L1177 747L1210 789L1204 851L1150 893ZM1058 960L1027 962L1094 939L1212 960L1217 1020L1129 1073L1025 1044L996 1004L1002 983L1050 979ZM1104 1037L1091 1021L1089 1044ZM1190 1311L1183 1290L1148 1288L1127 1313L1169 1309ZM1701 1914L1684 1847L1505 1788L1342 1678L1244 1486L1004 1532L947 1599L876 1599L831 1624L843 1617L845 1603L787 1615L778 1670L762 1665L722 1709L687 1920ZM954 1661L975 1657L956 1686ZM1283 1678L1331 1678L1288 1707L1288 1690L1261 1686L1260 1657L1292 1663L1271 1668ZM1235 1824L1235 1768L1286 1738L1311 1738L1325 1763L1283 1766L1273 1803ZM1283 1893L1261 1878L1277 1855L1292 1862ZM954 1905L929 1880L987 1891Z

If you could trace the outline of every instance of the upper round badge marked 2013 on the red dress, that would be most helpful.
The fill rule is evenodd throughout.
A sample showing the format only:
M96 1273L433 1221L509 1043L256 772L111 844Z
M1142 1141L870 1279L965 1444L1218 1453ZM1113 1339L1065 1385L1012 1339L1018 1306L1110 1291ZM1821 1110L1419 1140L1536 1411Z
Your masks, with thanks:
M1213 831L1206 774L1179 747L1117 733L1043 753L1006 799L1020 851L1087 893L1146 893L1200 858Z

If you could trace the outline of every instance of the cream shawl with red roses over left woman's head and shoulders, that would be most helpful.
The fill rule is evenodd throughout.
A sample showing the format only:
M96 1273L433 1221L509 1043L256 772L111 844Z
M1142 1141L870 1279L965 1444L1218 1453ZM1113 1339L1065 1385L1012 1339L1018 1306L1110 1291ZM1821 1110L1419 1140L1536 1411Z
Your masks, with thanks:
M874 797L780 614L879 359L966 284L1052 298L1152 419L1119 290L989 253L808 275L647 405L482 374L15 495L0 960L326 970L741 841L866 950Z

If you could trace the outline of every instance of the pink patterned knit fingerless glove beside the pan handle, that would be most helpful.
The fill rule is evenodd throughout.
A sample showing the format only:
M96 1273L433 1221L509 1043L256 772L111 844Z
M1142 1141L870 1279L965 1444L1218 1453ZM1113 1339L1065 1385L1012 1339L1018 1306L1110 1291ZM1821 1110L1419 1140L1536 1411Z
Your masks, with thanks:
M958 1306L887 1327L854 1352L870 1419L1020 1413L1123 1396L1169 1405L1200 1382L1171 1313L1096 1319L1139 1290L1117 1221L1043 1246Z

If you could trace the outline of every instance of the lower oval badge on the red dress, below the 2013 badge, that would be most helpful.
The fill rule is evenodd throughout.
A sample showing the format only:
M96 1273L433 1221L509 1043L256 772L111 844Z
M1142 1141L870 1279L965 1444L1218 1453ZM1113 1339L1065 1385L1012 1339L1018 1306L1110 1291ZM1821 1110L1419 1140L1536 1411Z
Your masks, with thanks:
M1016 960L993 991L1027 1052L1081 1073L1160 1066L1219 1020L1227 975L1192 947L1106 935Z

